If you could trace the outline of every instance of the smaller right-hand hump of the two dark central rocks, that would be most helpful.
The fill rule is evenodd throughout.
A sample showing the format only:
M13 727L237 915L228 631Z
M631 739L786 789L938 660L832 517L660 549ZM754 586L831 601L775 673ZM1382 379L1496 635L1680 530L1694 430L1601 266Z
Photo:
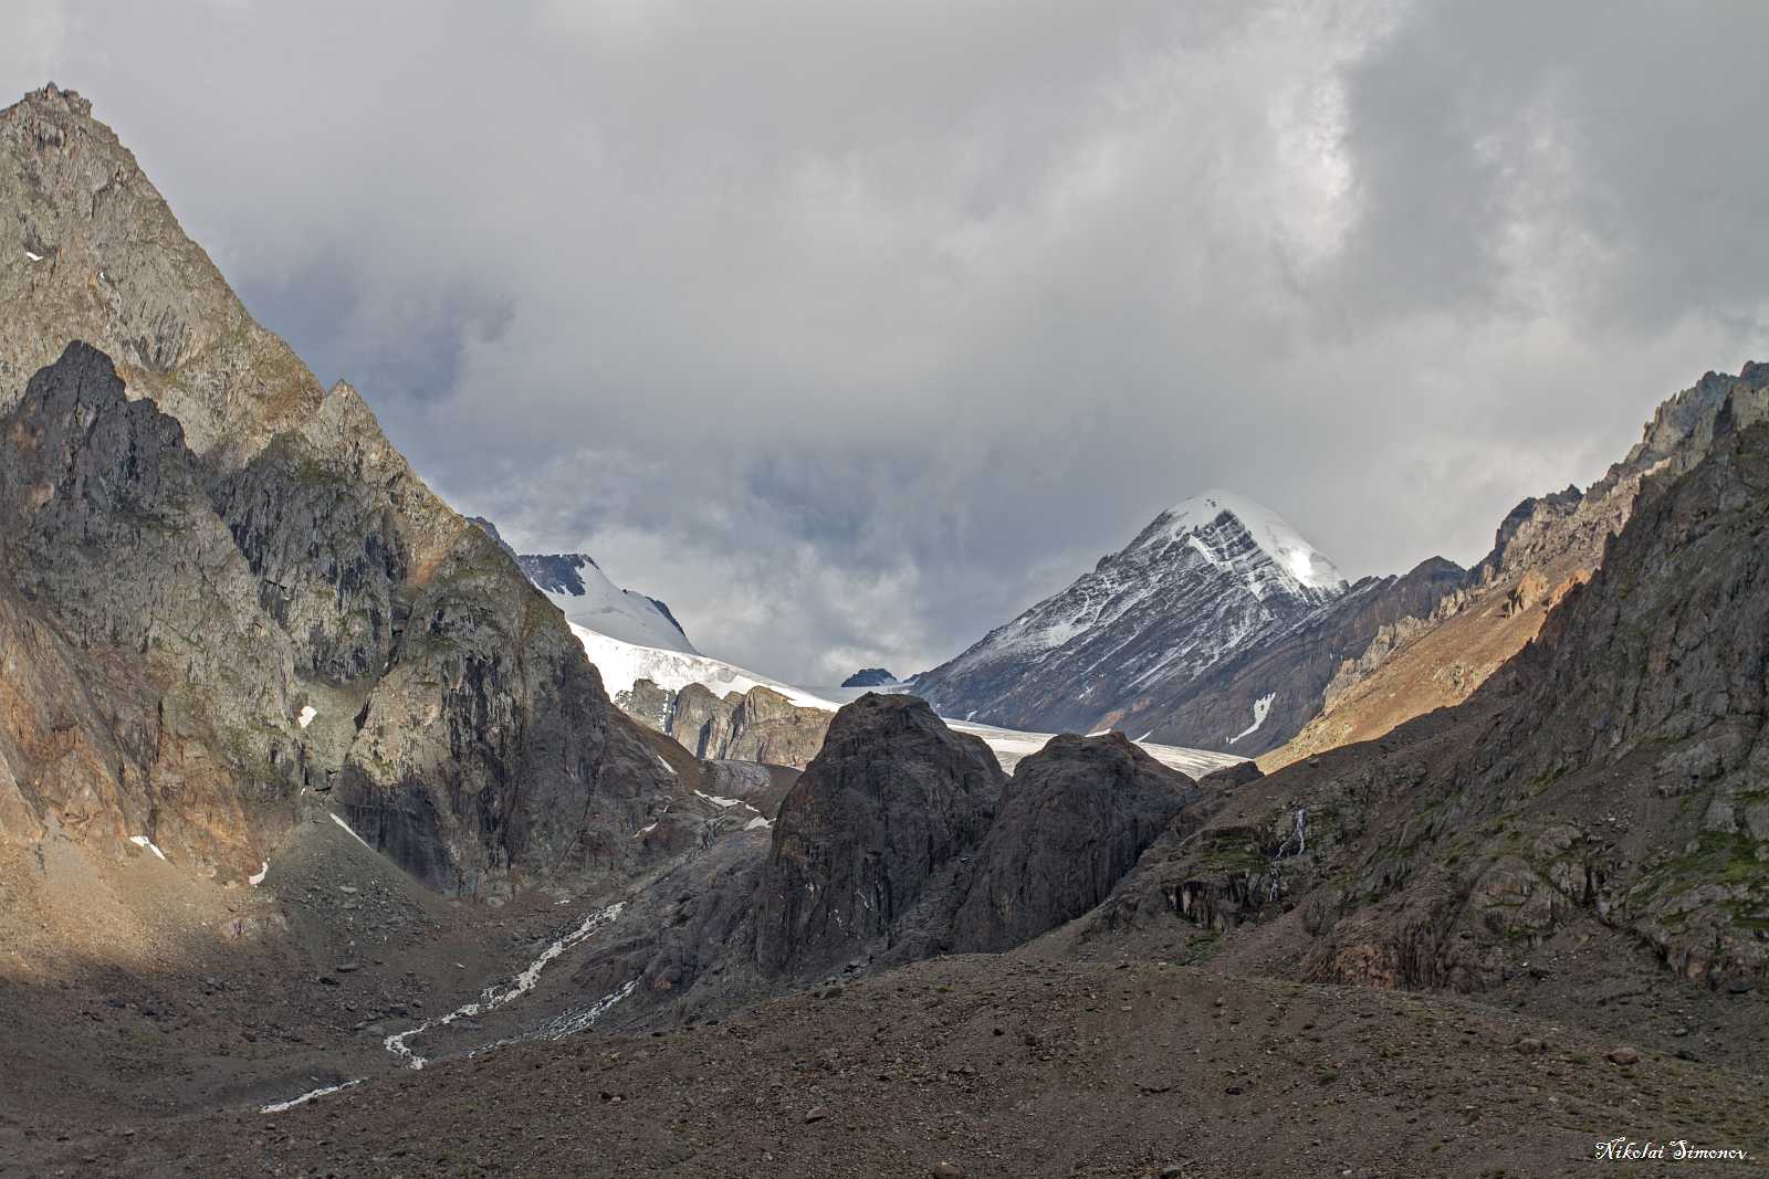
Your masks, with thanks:
M1054 737L1014 769L953 917L953 949L1012 949L1088 912L1198 797L1123 734Z

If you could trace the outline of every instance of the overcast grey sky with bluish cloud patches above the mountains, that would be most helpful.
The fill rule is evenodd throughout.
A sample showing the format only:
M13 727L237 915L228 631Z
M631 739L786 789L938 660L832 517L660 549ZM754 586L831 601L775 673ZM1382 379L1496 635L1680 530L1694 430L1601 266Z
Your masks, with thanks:
M456 507L800 682L1206 486L1468 564L1769 359L1760 0L7 7Z

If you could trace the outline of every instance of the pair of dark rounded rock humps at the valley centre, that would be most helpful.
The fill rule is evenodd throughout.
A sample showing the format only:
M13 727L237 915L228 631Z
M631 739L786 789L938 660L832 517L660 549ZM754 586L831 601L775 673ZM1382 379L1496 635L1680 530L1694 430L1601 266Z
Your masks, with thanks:
M862 696L780 806L757 965L814 976L1012 949L1106 900L1205 799L1122 734L1054 737L1005 780L922 700Z

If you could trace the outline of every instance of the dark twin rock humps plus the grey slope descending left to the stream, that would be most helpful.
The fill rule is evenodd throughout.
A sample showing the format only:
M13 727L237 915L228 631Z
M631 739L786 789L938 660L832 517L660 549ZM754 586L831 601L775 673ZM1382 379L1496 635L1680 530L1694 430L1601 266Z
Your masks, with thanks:
M791 780L709 769L764 813ZM646 933L593 953L584 988L637 977L628 1018L660 1004L706 1018L807 981L1012 949L1093 909L1249 776L1205 790L1113 734L1054 737L1010 780L922 700L869 693L837 712L773 831L750 820L635 896Z

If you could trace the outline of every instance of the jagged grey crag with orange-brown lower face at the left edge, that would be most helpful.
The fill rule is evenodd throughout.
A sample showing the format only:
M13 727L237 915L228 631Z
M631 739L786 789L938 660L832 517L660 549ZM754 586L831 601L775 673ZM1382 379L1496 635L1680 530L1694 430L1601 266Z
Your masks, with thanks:
M0 417L5 728L32 818L226 875L302 778L294 645L209 507L179 422L69 345ZM264 802L269 810L248 818Z

